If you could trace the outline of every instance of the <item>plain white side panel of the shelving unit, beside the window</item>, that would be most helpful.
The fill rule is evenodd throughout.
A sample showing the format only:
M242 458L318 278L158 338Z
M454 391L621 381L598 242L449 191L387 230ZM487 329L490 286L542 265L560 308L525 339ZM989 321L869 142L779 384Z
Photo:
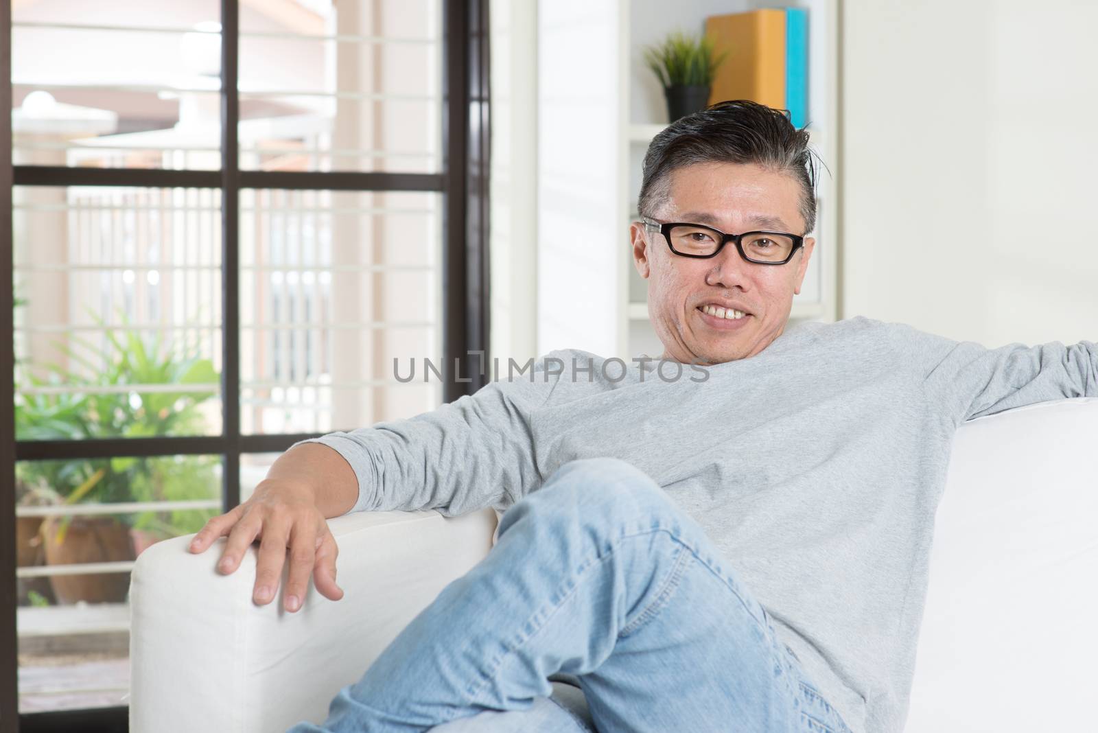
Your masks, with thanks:
M538 3L539 354L618 349L621 1Z

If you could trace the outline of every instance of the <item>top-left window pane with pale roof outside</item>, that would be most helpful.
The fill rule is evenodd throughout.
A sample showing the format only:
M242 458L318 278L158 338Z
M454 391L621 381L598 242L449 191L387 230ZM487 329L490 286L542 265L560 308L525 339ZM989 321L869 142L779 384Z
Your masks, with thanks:
M216 0L14 3L14 163L220 168L220 12Z

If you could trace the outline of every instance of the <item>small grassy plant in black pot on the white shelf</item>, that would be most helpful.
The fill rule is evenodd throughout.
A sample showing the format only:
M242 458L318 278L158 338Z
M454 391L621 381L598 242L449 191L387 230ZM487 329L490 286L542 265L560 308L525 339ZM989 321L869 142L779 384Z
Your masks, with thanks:
M715 56L713 41L704 35L692 36L681 31L670 34L663 43L645 49L648 68L663 86L670 122L704 110L709 104L713 79L725 56Z

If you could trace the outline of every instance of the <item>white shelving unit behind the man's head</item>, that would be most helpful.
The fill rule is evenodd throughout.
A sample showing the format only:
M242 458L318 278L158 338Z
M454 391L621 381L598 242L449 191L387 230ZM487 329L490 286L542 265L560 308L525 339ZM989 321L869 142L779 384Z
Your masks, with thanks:
M809 11L809 131L834 171L838 0L784 3ZM750 0L539 3L538 351L658 356L647 282L632 263L641 162L668 124L643 48L669 32L702 32L709 15L773 7ZM795 319L836 314L834 181L820 171L817 239Z

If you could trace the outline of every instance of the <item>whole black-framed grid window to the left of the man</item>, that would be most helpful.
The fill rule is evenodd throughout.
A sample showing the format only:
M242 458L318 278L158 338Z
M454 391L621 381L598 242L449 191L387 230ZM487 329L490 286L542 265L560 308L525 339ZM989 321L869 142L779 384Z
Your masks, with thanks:
M145 546L235 506L302 437L483 384L485 16L4 3L0 732L13 710L21 730L124 724ZM474 379L401 383L408 357Z

